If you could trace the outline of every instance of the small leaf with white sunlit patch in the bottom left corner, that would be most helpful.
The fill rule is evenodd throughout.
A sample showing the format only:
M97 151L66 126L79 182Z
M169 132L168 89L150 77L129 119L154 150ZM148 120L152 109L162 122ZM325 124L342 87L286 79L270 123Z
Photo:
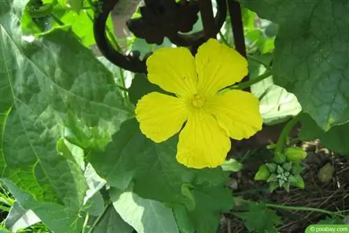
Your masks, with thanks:
M40 218L33 211L23 209L18 202L15 202L6 217L4 225L8 230L17 232L39 222Z

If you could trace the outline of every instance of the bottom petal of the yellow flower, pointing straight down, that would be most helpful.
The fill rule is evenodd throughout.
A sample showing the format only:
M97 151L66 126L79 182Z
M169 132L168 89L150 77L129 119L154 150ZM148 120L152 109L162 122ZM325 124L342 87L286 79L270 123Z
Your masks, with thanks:
M230 149L230 139L211 114L190 112L179 134L177 161L186 167L202 168L221 165Z

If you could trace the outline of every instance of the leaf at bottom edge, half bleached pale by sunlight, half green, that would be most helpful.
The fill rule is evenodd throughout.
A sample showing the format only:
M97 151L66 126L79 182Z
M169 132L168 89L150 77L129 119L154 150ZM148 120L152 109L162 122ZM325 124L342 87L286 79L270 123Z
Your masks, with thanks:
M144 199L132 191L113 188L110 198L117 213L138 233L179 233L172 209L161 202Z

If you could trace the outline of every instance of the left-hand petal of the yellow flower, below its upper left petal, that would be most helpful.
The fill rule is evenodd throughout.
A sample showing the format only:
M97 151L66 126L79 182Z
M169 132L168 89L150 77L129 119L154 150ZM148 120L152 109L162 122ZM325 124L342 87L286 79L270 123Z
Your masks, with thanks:
M188 116L181 98L151 92L135 108L140 130L154 142L163 142L177 133Z

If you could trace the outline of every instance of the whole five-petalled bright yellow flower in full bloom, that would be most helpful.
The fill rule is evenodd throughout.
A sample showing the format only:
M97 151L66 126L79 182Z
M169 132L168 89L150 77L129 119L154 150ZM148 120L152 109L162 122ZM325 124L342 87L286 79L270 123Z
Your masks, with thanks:
M138 101L140 130L154 142L179 134L177 160L187 167L217 167L230 150L262 128L258 99L239 90L218 92L248 73L246 59L210 39L195 57L184 47L161 48L147 59L148 79L177 97L151 92Z

